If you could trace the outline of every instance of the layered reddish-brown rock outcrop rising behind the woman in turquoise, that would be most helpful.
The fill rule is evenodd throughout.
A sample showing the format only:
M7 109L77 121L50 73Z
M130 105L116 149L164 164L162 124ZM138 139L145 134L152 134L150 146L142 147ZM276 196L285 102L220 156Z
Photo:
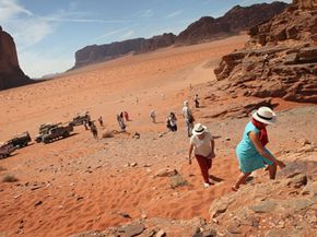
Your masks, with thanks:
M214 73L233 96L317 103L317 5L301 2L253 27L245 49L222 58Z

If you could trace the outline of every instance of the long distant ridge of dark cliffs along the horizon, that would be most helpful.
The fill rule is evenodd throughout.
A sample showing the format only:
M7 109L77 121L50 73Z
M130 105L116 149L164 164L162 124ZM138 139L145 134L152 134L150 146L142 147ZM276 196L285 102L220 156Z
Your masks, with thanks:
M198 22L189 25L177 37L169 33L154 36L150 39L136 38L107 45L86 46L75 52L73 69L115 59L128 54L153 51L174 44L190 45L227 37L243 29L248 29L263 21L268 21L285 9L286 5L284 2L255 4L247 8L236 5L222 17L201 17Z

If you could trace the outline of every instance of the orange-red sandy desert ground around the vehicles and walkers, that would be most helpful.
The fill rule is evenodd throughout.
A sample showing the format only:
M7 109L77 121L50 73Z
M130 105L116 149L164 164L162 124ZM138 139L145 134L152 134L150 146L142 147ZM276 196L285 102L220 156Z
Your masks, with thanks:
M210 189L203 189L197 164L187 164L188 139L180 109L183 100L193 93L203 97L214 90L203 83L214 80L212 69L219 58L240 48L246 39L238 36L129 56L45 83L1 92L0 140L24 130L34 137L42 122L68 121L80 110L90 110L94 119L103 115L105 130L118 129L115 115L122 109L132 118L128 131L138 131L141 138L119 134L95 141L89 131L75 128L75 134L69 139L48 145L32 144L0 161L0 168L4 169L0 169L1 178L12 174L20 179L15 183L0 183L0 234L67 236L130 221L122 213L131 218L142 215L209 218L211 201L228 192L238 174L234 147L247 119L203 117L215 107L243 99L202 100L204 107L195 110L197 120L208 123L218 138L212 175L222 181ZM195 86L192 91L190 84ZM278 103L283 112L298 106ZM158 114L156 125L148 118L151 108ZM160 138L166 131L163 121L171 110L177 112L179 131ZM271 131L274 152L296 144L296 138L316 138L309 133L309 126L316 126L313 122L316 107L286 112L281 114L281 126ZM302 117L303 129L287 127ZM136 167L127 166L134 162ZM154 177L166 167L176 168L189 186L171 189L168 178ZM39 188L33 190L35 187Z

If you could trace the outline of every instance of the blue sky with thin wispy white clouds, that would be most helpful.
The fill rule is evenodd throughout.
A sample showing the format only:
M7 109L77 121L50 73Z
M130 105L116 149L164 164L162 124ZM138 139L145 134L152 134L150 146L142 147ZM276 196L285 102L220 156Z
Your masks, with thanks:
M63 72L87 45L178 34L201 16L265 0L0 0L0 25L31 78ZM291 0L284 0L291 2Z

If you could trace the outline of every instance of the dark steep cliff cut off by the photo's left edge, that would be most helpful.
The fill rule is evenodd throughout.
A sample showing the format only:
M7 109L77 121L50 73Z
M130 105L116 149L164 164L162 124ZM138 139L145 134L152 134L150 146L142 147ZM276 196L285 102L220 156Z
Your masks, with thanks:
M33 81L24 74L19 66L13 38L0 26L0 90L30 83Z

